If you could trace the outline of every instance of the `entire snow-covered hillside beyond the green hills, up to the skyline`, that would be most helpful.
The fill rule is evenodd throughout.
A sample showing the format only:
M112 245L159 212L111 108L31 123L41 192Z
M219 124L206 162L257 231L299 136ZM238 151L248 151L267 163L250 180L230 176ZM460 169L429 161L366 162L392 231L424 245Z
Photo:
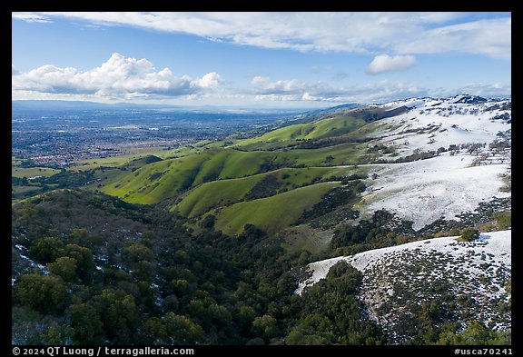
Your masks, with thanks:
M500 192L509 174L511 103L459 95L447 100L409 99L382 104L409 106L408 113L376 122L369 146L394 148L396 156L434 156L400 164L376 164L375 179L358 206L362 213L382 208L414 222L418 230L444 217L473 211L480 202L509 197ZM432 153L432 154L429 154Z

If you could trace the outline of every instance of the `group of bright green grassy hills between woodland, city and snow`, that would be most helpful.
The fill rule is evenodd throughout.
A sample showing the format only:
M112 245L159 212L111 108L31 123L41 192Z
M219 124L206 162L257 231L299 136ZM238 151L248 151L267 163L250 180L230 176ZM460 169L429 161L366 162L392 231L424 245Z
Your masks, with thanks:
M96 187L128 203L173 199L172 211L196 223L212 213L215 228L228 234L241 233L246 223L279 232L341 177L366 174L337 166L378 155L361 138L387 115L380 111L345 108L251 139L202 141L170 152L178 157L145 157L105 171Z

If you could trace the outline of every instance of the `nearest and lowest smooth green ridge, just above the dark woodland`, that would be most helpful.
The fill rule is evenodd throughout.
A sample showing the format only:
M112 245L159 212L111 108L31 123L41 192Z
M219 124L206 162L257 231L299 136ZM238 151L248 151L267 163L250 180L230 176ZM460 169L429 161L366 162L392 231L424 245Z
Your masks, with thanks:
M321 196L340 183L316 183L249 202L234 203L216 215L215 229L240 234L247 223L268 233L276 233L300 218L303 211L321 200Z

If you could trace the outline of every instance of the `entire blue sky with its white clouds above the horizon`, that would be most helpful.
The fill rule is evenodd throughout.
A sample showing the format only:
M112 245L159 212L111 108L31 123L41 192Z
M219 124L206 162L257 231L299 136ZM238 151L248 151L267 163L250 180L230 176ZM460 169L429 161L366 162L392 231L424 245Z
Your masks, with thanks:
M510 13L12 13L12 99L315 108L511 95Z

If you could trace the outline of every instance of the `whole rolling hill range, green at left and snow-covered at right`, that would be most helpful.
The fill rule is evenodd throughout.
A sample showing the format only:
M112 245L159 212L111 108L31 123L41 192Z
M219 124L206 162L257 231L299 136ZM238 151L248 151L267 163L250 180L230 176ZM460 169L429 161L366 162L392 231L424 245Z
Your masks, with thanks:
M265 191L256 193L256 199L266 200L262 203L290 200L288 205L303 208L300 196L308 191L297 189L360 174L369 186L356 205L362 218L386 207L420 229L440 217L471 212L482 200L509 195L499 192L500 176L507 176L509 169L509 102L463 98L335 107L250 139L204 141L179 150L182 157L120 166L118 174L97 188L129 203L171 199L172 210L197 221L215 213L217 228L227 233L240 233L243 218L276 233L293 219L270 224L270 211L264 212L270 204L250 213L256 190ZM484 180L472 185L467 177L478 174ZM456 194L462 200L450 202ZM234 214L242 219L232 219ZM255 215L258 218L252 218ZM225 223L228 220L234 223Z

